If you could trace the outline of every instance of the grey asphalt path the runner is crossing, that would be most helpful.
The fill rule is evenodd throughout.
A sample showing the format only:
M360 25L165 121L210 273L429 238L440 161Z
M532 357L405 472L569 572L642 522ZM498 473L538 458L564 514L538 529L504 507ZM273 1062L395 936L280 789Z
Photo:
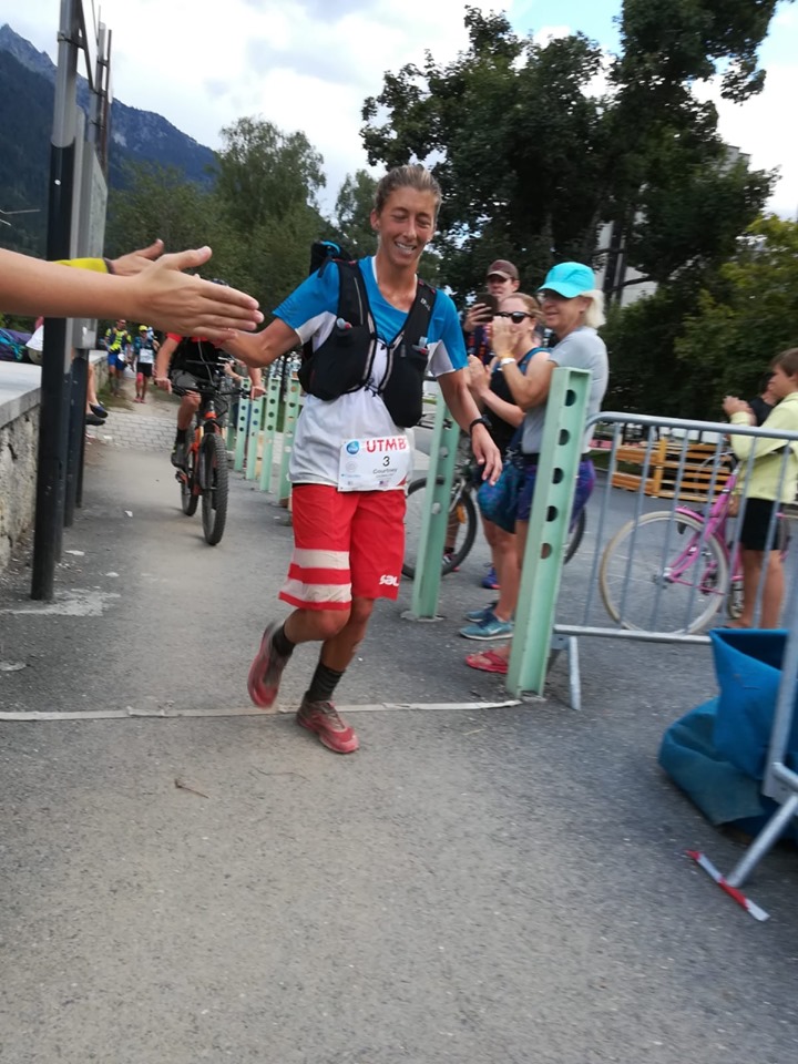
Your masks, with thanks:
M247 703L285 511L233 474L208 548L165 451L88 456L55 602L24 559L0 579L0 1061L792 1064L796 853L756 923L684 856L739 845L656 765L705 647L584 641L582 713L562 664L488 708L457 634L480 546L442 621L378 606L336 756L294 724L313 648L280 712Z

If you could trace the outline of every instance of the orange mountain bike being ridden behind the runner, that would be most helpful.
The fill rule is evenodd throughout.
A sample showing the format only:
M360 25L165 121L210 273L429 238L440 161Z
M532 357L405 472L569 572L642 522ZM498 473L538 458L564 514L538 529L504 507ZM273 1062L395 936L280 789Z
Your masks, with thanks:
M203 535L211 546L215 546L224 535L227 521L229 483L224 430L229 405L241 395L241 389L227 383L226 360L215 366L186 361L186 372L192 372L188 367L193 365L202 367L203 377L195 378L196 383L191 387L174 383L172 387L176 396L188 391L200 392L200 407L194 418L194 436L188 444L186 464L184 469L176 470L175 479L181 485L181 507L186 516L196 513L202 499Z

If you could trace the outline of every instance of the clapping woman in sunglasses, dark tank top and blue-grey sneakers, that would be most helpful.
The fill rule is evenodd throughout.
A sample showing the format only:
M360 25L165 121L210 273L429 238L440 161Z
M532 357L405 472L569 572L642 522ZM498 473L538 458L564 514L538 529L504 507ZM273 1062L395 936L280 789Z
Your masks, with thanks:
M507 332L507 344L502 350L509 351L508 358L515 361L519 374L525 372L533 358L545 360L549 352L540 347L539 321L540 304L534 296L514 291L505 296L499 305L489 331L501 328ZM497 323L502 323L501 327ZM513 443L518 447L516 432L524 413L513 399L508 377L502 371L498 358L484 366L479 358L469 358L469 388L477 405L488 415L491 422L491 436L499 448L502 461ZM501 640L512 635L513 613L518 600L520 573L515 550L515 535L505 532L482 514L485 539L491 549L491 561L495 572L499 600L483 610L473 610L467 614L470 624L460 630L467 640Z

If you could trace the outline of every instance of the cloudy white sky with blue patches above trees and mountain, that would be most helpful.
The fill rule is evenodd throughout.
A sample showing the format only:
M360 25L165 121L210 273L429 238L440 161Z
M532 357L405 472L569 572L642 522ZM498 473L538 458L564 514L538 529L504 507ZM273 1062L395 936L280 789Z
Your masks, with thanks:
M84 0L89 2L89 0ZM470 0L504 10L521 34L581 30L616 50L613 18L621 0ZM55 61L60 0L0 0L0 21ZM114 93L155 111L209 147L219 130L260 115L285 132L303 130L323 154L330 206L347 173L366 166L359 129L366 96L379 93L385 71L437 62L466 42L464 0L95 0L113 31ZM720 134L758 168L779 167L771 209L798 211L798 4L781 2L760 60L765 91L744 106L719 103ZM713 93L712 86L707 92Z

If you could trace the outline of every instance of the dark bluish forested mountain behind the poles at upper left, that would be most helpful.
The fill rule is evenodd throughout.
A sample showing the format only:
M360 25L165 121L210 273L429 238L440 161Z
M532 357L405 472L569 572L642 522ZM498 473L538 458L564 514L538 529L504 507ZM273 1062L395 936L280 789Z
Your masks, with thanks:
M0 209L38 209L0 224L0 247L44 255L53 125L55 64L6 24L0 28ZM88 111L89 85L78 75L78 103ZM174 166L187 181L208 186L215 160L209 147L181 133L152 111L111 106L109 185L125 186L130 163ZM4 215L0 215L3 218Z

